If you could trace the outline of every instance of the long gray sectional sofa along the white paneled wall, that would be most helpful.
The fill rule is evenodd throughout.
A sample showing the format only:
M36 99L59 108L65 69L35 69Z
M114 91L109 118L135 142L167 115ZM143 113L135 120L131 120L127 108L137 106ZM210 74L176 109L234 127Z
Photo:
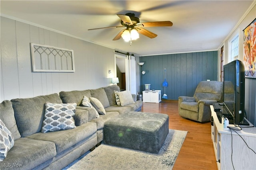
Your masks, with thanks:
M128 111L140 111L142 106L142 101L136 101L135 95L134 103L116 105L114 90L118 91L118 86L4 100L0 104L0 118L13 135L14 146L0 162L1 170L15 166L20 166L20 169L61 169L99 145L103 141L105 121ZM98 117L92 107L80 106L84 96L97 98L106 114ZM75 103L72 119L76 127L42 133L43 123L47 123L46 103Z

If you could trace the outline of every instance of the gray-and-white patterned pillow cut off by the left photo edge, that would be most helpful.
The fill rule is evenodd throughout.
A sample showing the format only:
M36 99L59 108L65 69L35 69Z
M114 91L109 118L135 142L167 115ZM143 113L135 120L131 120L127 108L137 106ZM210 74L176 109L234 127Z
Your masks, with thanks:
M14 145L12 133L7 129L2 120L0 120L0 161L6 158L8 151Z

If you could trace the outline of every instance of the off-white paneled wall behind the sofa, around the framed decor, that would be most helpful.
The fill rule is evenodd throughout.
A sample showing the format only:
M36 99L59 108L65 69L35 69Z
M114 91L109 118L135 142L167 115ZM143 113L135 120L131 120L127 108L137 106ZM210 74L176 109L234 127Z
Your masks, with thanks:
M74 50L75 72L32 72L30 43ZM108 86L114 60L113 49L1 17L1 102Z

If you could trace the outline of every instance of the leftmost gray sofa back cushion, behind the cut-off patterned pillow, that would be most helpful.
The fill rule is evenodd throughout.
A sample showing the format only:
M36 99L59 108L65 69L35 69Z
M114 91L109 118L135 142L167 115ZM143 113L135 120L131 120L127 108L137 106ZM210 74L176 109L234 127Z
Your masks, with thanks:
M10 100L4 100L0 104L0 119L4 122L7 129L12 133L14 140L20 138L20 132L16 125L16 120L14 117L14 110L12 108L12 102Z

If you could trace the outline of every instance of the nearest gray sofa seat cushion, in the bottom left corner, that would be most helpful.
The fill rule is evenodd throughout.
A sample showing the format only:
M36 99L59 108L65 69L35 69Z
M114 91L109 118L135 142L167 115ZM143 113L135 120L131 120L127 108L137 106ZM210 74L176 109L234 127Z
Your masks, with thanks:
M41 133L44 134L44 133ZM1 170L24 169L29 170L56 156L55 145L49 141L38 141L28 138L15 140L14 146L9 150L7 157L1 164L10 164L11 167L1 166ZM13 165L22 165L21 168Z

